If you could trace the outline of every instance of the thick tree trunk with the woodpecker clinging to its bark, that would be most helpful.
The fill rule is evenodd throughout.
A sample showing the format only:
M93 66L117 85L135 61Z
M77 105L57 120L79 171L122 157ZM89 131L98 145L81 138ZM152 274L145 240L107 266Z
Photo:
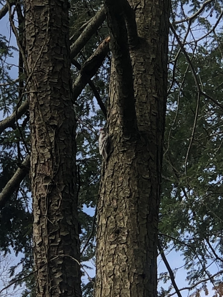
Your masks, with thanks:
M107 122L113 150L98 202L96 297L157 296L169 1L129 2L137 6L137 33L125 1L105 1L113 55ZM132 70L126 70L128 59Z

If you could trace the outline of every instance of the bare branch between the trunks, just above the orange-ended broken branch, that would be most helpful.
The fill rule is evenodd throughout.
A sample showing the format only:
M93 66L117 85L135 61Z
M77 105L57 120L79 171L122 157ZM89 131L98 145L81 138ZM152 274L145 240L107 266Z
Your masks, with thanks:
M98 27L103 23L105 20L105 9L101 7L100 10L96 13L96 15L91 18L81 33L81 35L77 38L77 40L71 45L71 59L73 59L84 47L84 45L88 42L88 40L92 37Z

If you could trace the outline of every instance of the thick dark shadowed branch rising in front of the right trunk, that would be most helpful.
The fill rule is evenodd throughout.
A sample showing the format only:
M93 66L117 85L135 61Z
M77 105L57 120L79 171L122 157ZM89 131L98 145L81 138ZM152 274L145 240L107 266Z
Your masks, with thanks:
M114 63L115 89L124 134L136 131L136 110L133 87L133 71L129 53L128 33L125 25L125 0L105 0L105 10L111 37Z

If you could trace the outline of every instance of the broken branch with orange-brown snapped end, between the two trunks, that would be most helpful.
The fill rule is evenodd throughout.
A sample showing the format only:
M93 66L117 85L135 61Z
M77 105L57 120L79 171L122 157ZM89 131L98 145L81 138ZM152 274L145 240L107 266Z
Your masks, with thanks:
M87 61L82 65L80 73L73 84L74 101L81 94L81 91L84 89L89 80L95 75L98 68L104 61L109 51L109 40L110 37L107 37L105 40L103 40L103 42L98 46L89 59L87 59Z

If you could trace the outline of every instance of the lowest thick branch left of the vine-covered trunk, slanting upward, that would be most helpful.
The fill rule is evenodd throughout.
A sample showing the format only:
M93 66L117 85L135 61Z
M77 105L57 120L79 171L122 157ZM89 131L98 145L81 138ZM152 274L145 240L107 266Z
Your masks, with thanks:
M29 172L30 167L30 156L27 155L24 161L21 164L21 168L18 168L12 178L7 182L4 189L2 189L0 193L0 208L4 206L4 204L7 202L8 198L15 192L16 189L18 189L21 181L26 176L26 174Z

